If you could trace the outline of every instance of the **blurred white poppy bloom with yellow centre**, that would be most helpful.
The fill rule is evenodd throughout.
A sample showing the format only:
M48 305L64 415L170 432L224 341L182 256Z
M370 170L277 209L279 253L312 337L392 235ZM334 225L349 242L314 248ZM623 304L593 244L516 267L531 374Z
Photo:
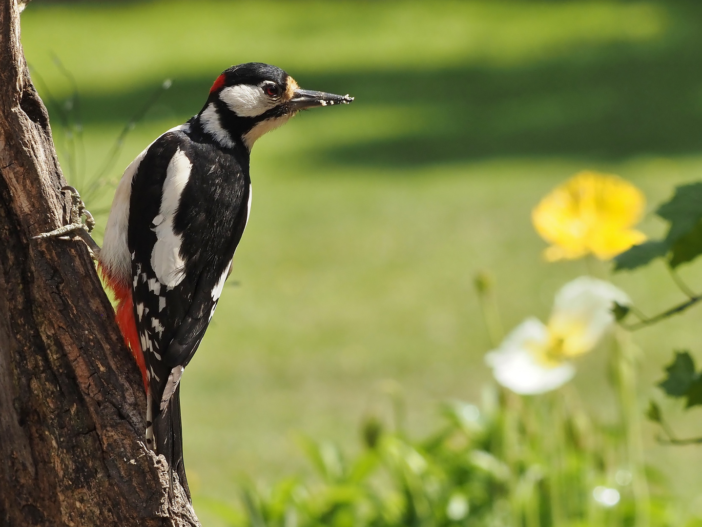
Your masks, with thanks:
M497 382L517 394L550 392L575 375L568 361L589 352L614 324L611 309L628 305L626 293L611 283L581 276L563 286L545 325L531 317L485 356Z

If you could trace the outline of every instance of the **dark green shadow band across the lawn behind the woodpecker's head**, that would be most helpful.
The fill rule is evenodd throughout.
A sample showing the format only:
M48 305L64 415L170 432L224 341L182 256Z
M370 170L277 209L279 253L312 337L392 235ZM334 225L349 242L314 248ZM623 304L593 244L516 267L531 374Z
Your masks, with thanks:
M583 48L529 67L296 72L303 86L352 93L357 105L399 107L418 120L389 138L318 149L314 155L330 164L405 166L492 156L616 160L699 152L702 6L666 5L671 25L662 41ZM176 79L147 119L163 112L187 119L200 109L215 76ZM84 119L123 123L152 89L88 95L82 101Z

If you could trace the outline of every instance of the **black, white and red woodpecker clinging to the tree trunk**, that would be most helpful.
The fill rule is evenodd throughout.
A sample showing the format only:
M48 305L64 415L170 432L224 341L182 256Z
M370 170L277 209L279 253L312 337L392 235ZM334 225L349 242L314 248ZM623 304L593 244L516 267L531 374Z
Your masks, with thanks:
M171 480L175 470L189 497L180 379L212 319L249 220L251 147L300 110L352 100L300 89L272 65L232 66L214 81L199 114L146 147L117 186L102 248L93 251L142 374L146 444L164 455ZM80 221L73 220L79 230Z

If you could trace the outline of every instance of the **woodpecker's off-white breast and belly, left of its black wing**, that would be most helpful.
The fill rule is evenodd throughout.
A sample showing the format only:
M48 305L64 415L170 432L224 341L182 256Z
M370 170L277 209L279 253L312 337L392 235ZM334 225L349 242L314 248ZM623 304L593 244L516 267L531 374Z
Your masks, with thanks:
M190 126L181 124L175 128L166 131L189 131ZM161 135L159 135L161 137ZM156 140L154 140L156 142ZM154 144L151 143L151 145ZM151 145L147 146L143 151L136 156L122 174L117 190L114 192L112 199L112 207L110 208L110 217L107 218L105 225L105 239L102 241L100 249L100 265L113 279L119 279L124 282L125 286L130 283L131 276L131 255L127 244L127 227L129 222L129 200L131 199L131 184L134 175L137 172L139 165L144 159L146 152Z

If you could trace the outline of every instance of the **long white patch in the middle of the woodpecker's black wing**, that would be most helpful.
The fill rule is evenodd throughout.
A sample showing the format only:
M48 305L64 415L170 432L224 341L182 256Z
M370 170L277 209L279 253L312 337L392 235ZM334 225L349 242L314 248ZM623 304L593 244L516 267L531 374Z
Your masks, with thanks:
M190 159L187 159L182 150L177 149L166 168L161 208L152 227L157 241L151 253L151 267L159 282L167 287L175 287L185 278L185 261L180 256L183 236L173 231L173 221L178 212L180 194L183 194L191 169Z

